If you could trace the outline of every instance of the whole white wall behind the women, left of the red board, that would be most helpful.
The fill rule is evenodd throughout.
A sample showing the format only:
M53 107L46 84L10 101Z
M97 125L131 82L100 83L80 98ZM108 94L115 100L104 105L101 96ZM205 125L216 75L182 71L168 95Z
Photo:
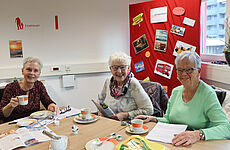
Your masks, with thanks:
M9 39L22 39L24 56L36 55L45 64L40 80L44 80L49 95L59 106L89 107L95 111L90 100L97 99L105 78L110 76L104 67L108 56L113 51L129 54L128 4L135 2L140 0L1 0L0 83L11 82L14 76L22 78L22 59L9 59L8 51ZM50 22L49 17L54 15L60 17L58 32L50 31L53 20ZM43 27L36 31L16 31L11 20L15 16L24 16L24 22L30 20ZM94 65L98 72L87 67L90 64L93 68L92 63L100 62L101 65ZM50 72L51 66L65 64L72 64L73 70ZM75 74L75 87L63 88L64 74Z

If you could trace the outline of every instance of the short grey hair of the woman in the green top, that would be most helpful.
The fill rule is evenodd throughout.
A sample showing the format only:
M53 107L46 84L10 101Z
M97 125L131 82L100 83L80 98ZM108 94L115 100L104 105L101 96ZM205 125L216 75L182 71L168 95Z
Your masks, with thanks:
M201 68L200 56L196 52L191 52L191 51L184 51L184 52L181 52L179 55L177 55L175 59L176 67L178 65L178 62L181 62L186 59L190 61L191 63L193 63L196 68Z

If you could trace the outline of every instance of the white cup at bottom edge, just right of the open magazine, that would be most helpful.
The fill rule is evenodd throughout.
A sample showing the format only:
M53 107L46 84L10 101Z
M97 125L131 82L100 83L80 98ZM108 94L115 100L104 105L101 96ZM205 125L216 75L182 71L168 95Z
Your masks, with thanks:
M60 139L51 139L49 150L65 150L68 145L68 137L60 135Z

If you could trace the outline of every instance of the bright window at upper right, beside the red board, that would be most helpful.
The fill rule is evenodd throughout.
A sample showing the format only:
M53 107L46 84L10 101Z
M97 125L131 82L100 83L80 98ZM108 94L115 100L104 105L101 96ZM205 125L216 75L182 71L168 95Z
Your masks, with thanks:
M215 10L215 11L214 11ZM206 16L206 14L208 14ZM223 55L226 1L208 0L201 4L201 54Z

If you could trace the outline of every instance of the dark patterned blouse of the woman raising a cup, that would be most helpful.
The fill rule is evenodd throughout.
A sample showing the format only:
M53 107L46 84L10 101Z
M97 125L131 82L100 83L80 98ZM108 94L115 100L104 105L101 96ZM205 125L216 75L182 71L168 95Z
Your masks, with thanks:
M22 90L18 82L12 82L6 85L0 103L0 120L3 120L3 122L8 122L29 116L31 113L40 110L40 101L46 109L49 104L54 103L49 97L43 83L41 81L36 81L33 88L29 90L28 104L18 105L14 108L11 115L5 118L2 112L3 107L5 107L10 102L12 97L26 95L26 93L27 91Z

